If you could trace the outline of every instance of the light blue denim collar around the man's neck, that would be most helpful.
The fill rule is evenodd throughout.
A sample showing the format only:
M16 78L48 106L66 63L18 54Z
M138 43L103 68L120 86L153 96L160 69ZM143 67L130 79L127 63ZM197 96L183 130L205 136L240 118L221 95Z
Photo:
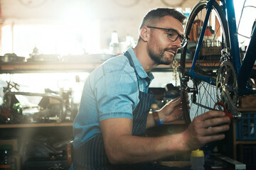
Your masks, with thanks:
M135 66L134 69L136 69L138 76L141 79L146 79L146 77L148 77L150 80L154 79L154 76L151 72L149 72L149 74L146 74L146 72L142 67L142 64L139 62L138 58L136 57L133 48L129 47L127 51L132 56L132 62L134 62L134 66Z

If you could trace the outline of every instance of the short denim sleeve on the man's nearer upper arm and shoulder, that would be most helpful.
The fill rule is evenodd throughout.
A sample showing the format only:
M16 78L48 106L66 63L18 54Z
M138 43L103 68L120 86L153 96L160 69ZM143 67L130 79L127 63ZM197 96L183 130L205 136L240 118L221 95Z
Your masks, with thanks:
M124 70L107 72L95 85L95 98L99 118L130 118L137 103L139 91L137 78Z

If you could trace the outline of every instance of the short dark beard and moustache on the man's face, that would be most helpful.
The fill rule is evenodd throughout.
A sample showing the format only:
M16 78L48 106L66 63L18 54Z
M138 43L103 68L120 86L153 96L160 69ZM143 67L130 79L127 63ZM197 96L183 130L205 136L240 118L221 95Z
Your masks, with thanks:
M169 60L168 57L164 57L164 52L169 51L169 50L173 50L175 52L175 54L174 54L174 57L175 57L176 52L177 52L177 48L176 47L164 48L163 50L159 50L158 54L156 54L156 52L154 52L154 50L149 49L149 57L151 57L151 59L156 64L166 64L166 65L169 65L174 60L174 57L171 60Z

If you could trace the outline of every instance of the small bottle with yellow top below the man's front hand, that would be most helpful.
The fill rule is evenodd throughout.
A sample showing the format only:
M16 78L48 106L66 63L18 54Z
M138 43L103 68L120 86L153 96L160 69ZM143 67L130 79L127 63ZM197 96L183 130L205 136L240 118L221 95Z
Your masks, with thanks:
M200 149L191 151L191 169L204 170L204 154Z

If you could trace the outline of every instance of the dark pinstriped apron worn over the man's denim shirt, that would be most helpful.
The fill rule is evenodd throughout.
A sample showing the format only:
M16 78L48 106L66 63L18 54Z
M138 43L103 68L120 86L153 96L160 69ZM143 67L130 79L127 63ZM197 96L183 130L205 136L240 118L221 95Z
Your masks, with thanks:
M132 57L128 52L124 55L128 58L129 63L134 67ZM136 69L134 68L135 73ZM137 74L138 77L138 74ZM138 79L138 78L137 78ZM138 81L139 86L139 81ZM154 102L154 94L146 94L139 91L139 103L133 111L132 135L142 136L146 131L146 118L148 116L151 103ZM169 169L167 166L159 166L154 163L142 164L110 164L107 159L103 143L102 133L95 135L91 140L75 150L73 159L73 168L75 170L151 170L151 169Z

